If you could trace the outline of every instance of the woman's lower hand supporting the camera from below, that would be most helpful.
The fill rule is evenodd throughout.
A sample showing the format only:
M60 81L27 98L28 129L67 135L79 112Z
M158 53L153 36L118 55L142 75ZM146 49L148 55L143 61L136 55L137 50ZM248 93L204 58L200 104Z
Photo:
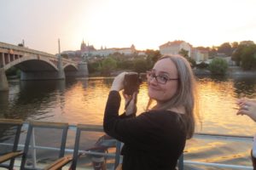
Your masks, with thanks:
M136 114L136 112L137 112L137 92L135 92L132 95L128 95L123 92L123 96L125 98L125 115L129 116L132 114Z

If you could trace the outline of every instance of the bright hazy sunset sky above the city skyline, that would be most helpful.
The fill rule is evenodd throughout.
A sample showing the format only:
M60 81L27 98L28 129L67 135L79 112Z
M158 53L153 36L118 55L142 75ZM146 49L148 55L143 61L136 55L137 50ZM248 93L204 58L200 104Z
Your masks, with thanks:
M194 47L256 42L255 0L1 0L0 42L50 54L99 49L159 49L184 40Z

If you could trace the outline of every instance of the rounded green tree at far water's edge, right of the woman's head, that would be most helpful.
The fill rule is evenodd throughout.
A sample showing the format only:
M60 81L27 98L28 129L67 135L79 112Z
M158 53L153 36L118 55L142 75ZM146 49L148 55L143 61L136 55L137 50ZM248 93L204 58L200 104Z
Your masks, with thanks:
M228 63L225 59L214 58L209 64L208 69L214 75L224 75L228 70Z

